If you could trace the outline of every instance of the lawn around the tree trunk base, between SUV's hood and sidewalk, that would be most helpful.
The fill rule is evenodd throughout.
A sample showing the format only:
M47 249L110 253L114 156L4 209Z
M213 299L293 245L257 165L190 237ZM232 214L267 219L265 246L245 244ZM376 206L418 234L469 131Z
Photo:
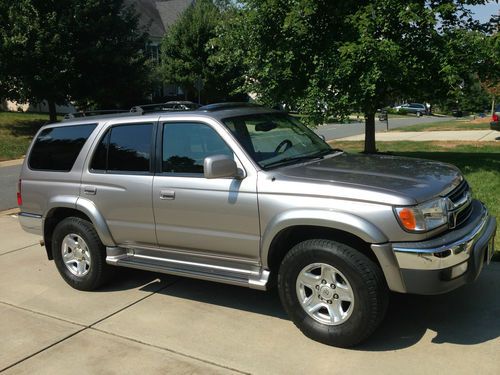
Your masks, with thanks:
M362 141L330 143L348 152L363 150ZM377 147L379 152L456 165L467 178L474 197L483 201L490 213L500 220L499 142L377 142ZM495 249L495 259L500 261L500 226Z

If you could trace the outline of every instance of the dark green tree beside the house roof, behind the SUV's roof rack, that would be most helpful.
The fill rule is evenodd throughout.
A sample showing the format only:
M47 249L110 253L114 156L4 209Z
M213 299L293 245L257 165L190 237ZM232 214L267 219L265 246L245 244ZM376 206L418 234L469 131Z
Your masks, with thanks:
M241 68L221 63L212 42L226 11L231 11L226 2L198 0L182 13L163 39L162 78L180 85L191 98L198 96L197 82L203 84L205 102L226 100L235 95L234 88L241 86Z

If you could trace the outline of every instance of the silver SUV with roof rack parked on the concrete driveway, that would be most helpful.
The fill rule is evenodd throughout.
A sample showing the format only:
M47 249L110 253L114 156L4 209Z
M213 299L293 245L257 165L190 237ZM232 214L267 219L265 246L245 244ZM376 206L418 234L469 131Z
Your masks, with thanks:
M474 281L496 220L460 171L350 155L284 113L220 104L44 126L19 220L80 290L132 267L265 290L314 340L356 345L389 290Z

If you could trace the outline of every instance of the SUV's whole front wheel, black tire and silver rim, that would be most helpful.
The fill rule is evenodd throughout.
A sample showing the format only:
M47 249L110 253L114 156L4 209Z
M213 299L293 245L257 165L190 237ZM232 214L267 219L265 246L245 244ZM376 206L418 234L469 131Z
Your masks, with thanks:
M278 287L285 310L306 336L339 347L366 339L388 304L378 265L330 240L307 240L293 247L281 264Z

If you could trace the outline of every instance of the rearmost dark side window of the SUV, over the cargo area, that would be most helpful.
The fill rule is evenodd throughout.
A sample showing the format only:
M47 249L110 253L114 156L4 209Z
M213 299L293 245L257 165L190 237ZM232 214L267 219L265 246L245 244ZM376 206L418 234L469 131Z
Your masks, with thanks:
M31 169L68 172L97 124L63 126L43 130L29 158Z

